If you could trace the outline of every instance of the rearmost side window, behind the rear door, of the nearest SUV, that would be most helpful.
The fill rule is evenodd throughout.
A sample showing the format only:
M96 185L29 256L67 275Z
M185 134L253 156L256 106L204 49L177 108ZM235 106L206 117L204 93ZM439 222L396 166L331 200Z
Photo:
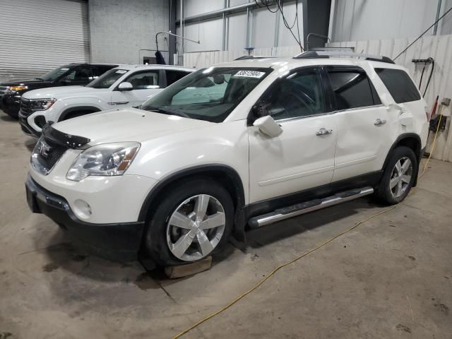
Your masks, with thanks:
M401 69L375 69L375 71L398 104L420 100L421 95L405 71Z

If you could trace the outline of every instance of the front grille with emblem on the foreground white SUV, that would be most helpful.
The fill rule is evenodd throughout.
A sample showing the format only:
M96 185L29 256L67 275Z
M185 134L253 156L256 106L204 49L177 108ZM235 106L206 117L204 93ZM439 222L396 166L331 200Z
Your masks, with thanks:
M32 165L42 174L48 174L67 149L48 138L40 138L33 150Z

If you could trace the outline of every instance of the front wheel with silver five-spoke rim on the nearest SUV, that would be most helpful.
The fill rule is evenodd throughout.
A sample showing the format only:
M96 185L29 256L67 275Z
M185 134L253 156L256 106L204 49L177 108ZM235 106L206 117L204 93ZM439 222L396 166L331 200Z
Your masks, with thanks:
M220 251L234 222L227 190L210 179L173 185L153 210L144 250L160 266L199 261Z

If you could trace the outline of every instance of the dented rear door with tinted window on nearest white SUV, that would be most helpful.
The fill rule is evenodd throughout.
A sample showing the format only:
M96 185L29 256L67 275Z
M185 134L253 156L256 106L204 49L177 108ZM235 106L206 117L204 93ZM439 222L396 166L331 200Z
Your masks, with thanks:
M328 66L338 142L333 182L381 169L392 141L388 109L364 69Z

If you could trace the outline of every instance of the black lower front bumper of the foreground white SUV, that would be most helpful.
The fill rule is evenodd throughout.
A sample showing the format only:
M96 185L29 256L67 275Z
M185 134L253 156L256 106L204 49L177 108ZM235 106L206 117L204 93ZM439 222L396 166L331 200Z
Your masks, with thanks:
M28 175L25 182L28 206L66 229L90 252L105 258L131 261L138 258L144 222L94 224L76 217L62 196L47 191Z

